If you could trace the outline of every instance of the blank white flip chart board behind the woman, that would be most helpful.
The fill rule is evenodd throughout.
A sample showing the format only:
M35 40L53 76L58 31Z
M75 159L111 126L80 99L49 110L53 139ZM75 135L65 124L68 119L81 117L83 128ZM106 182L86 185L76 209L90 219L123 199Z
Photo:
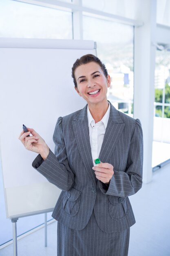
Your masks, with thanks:
M80 56L96 54L86 40L0 39L0 157L7 218L52 211L60 189L36 171L36 153L18 136L22 124L37 131L54 152L57 118L83 108L71 67Z

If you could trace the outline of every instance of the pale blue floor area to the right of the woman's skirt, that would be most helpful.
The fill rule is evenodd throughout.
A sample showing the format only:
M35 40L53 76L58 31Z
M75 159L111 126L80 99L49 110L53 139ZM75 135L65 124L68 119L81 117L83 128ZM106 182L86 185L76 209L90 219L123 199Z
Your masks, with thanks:
M170 256L169 181L170 164L130 197L136 224L131 227L129 256Z

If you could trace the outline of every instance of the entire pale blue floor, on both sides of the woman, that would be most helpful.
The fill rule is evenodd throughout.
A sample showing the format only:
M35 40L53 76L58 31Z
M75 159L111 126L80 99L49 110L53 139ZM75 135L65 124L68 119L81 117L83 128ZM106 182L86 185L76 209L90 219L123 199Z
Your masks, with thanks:
M153 173L152 182L143 184L130 196L136 224L130 229L128 256L170 256L170 165ZM48 225L48 247L44 228L18 241L18 256L56 256L57 222ZM13 247L0 249L0 256L12 256Z

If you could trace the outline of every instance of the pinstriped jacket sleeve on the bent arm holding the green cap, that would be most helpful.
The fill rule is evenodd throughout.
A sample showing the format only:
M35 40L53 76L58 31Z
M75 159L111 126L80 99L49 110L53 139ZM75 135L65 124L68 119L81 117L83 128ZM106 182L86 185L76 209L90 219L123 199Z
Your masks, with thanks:
M128 152L126 171L114 170L110 184L106 186L99 181L99 188L106 195L128 197L137 193L142 186L143 171L143 133L141 122L136 119Z

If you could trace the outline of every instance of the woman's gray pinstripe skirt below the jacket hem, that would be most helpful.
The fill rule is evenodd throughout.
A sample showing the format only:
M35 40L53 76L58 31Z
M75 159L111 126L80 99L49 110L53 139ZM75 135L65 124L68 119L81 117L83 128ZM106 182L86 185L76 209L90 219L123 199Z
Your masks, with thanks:
M130 228L105 233L97 225L94 212L82 230L57 223L57 256L127 256Z

